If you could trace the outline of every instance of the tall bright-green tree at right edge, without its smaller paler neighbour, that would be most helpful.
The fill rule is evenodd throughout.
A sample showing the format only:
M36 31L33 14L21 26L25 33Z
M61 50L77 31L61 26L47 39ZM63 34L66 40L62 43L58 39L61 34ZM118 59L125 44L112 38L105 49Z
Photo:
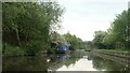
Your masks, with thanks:
M114 44L116 48L128 48L126 41L128 34L128 11L123 11L116 16L110 26L108 35L104 39L104 43Z

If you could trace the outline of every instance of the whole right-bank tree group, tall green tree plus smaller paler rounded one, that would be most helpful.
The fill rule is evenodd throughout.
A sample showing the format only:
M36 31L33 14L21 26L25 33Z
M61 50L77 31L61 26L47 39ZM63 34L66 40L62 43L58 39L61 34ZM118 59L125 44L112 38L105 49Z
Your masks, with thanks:
M104 48L126 49L130 48L130 10L116 16L107 32L95 32L93 42L102 43ZM101 48L101 47L99 47Z

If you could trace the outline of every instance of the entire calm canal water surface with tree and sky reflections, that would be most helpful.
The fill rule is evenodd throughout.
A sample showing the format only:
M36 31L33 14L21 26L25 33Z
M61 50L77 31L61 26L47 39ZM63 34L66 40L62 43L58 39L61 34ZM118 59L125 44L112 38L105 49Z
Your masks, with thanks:
M89 52L49 54L39 57L3 57L4 71L129 71L128 63L120 63Z

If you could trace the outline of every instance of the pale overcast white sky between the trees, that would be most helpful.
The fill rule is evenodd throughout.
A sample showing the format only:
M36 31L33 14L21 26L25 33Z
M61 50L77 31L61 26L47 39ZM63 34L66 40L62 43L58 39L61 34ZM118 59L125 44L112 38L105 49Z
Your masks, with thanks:
M57 0L65 8L61 34L69 33L83 41L93 40L94 31L106 31L129 0Z

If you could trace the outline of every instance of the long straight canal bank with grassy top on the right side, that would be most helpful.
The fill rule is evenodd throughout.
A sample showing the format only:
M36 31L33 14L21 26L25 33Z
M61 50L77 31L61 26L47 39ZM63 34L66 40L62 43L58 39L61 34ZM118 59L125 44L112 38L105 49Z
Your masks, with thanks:
M103 50L96 49L91 53L102 58L114 60L120 63L130 64L130 53L109 52L109 50L104 50L104 49Z

